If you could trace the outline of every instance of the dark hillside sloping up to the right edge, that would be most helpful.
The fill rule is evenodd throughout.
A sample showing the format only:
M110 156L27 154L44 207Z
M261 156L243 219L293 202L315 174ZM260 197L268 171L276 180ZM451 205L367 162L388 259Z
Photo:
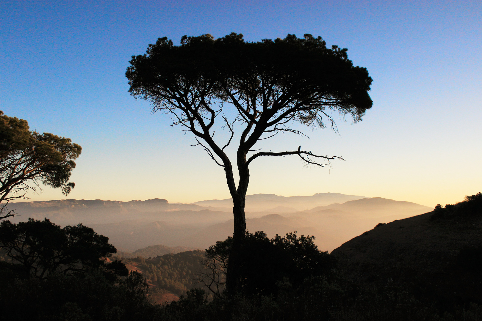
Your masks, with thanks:
M393 281L439 303L481 303L482 213L433 214L380 224L332 254L358 284Z

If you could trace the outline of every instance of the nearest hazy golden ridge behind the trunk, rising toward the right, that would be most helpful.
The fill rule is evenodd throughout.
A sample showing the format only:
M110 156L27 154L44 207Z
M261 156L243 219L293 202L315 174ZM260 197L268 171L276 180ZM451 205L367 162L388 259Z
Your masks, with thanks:
M432 208L411 202L386 198L363 198L343 204L318 206L307 211L273 213L258 218L247 218L248 231L265 231L268 237L297 231L298 235L315 235L322 250L333 250L343 242L372 229L378 223L408 218L431 211ZM232 235L233 220L206 227L182 240L186 246L205 248L215 241ZM198 245L198 246L199 246Z

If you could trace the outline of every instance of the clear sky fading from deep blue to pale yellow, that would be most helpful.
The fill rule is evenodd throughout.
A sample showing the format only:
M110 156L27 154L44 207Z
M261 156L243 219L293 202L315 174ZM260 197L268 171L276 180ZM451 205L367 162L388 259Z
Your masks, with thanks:
M124 73L158 37L179 43L232 31L247 41L321 36L374 78L362 122L265 145L346 161L257 160L248 194L334 192L434 206L482 191L480 0L1 1L0 13L0 109L82 146L68 198L229 197L222 168L168 116L134 100ZM62 198L48 188L31 195Z

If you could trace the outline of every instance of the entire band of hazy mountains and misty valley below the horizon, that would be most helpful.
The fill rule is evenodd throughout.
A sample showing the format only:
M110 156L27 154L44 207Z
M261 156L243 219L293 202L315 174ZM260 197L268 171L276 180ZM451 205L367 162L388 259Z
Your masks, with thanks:
M13 222L49 218L59 225L83 223L109 237L122 251L149 245L205 249L232 235L230 199L194 204L146 201L54 200L11 203L19 216ZM320 249L332 250L377 223L408 218L431 208L410 202L339 193L284 197L254 194L246 197L246 224L251 232L269 237L297 231L317 237Z

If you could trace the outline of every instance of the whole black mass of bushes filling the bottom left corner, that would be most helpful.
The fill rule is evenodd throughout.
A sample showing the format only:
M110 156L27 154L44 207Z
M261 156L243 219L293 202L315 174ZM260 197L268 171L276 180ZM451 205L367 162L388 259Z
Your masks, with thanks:
M147 320L155 307L142 274L106 257L108 238L48 219L0 224L0 320Z

